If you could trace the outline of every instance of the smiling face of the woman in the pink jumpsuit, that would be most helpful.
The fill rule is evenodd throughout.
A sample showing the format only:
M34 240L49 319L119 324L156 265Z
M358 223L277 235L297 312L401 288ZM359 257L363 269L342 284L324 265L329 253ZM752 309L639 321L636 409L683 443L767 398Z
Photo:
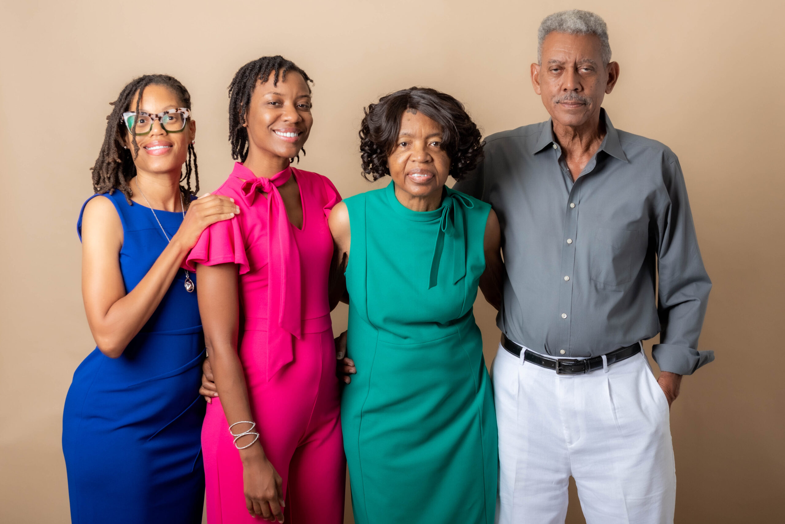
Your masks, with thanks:
M313 125L311 90L296 71L289 71L274 85L274 75L257 80L245 115L248 129L246 165L288 165L308 140ZM277 169L277 168L274 168Z

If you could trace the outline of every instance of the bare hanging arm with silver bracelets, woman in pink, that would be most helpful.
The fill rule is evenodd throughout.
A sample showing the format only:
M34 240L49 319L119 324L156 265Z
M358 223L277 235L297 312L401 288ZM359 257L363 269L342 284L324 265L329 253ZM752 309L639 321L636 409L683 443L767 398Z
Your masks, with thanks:
M227 420L254 420L248 402L243 364L237 354L239 297L235 264L199 265L196 269L199 287L199 315L202 316L204 340L210 354L215 385L221 395ZM238 424L232 431L246 431L250 424ZM254 435L239 438L237 446L253 441ZM281 476L272 466L258 440L239 450L243 460L243 486L246 504L262 515L261 504L268 504L272 515L283 522L283 485ZM258 508L257 508L258 506ZM256 511L254 511L256 512ZM268 510L269 515L270 510ZM269 519L269 517L265 517Z

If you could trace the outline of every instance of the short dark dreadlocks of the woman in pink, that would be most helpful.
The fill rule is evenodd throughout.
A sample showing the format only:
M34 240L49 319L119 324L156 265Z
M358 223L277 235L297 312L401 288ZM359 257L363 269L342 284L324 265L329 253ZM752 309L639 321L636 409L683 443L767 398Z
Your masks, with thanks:
M232 78L232 83L229 84L229 143L232 144L232 158L235 160L245 162L248 158L248 129L243 127L243 124L246 123L250 96L254 94L256 81L267 82L270 75L273 75L272 85L278 86L278 81L283 82L290 71L299 73L306 86L309 82L313 83L305 71L280 55L262 56L252 60L240 67L235 78ZM308 86L308 90L310 92L311 86ZM302 149L302 154L305 155L305 148ZM295 158L300 161L300 155ZM290 160L294 161L294 158Z

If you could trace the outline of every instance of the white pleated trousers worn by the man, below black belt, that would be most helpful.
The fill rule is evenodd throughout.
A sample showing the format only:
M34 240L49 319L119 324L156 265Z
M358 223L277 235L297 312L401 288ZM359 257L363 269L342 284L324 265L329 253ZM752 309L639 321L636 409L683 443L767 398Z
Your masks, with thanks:
M585 375L557 375L499 345L498 524L562 524L570 475L587 524L671 524L670 412L641 353Z

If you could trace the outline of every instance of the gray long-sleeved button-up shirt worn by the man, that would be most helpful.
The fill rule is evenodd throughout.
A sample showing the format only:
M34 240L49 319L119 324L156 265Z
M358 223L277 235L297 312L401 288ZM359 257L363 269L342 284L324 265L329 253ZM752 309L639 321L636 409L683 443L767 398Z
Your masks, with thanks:
M697 350L711 281L681 166L665 145L615 129L604 109L601 118L605 138L574 184L549 120L488 136L476 172L455 185L489 202L502 226L498 327L554 357L660 333L660 369L688 375L714 351Z

